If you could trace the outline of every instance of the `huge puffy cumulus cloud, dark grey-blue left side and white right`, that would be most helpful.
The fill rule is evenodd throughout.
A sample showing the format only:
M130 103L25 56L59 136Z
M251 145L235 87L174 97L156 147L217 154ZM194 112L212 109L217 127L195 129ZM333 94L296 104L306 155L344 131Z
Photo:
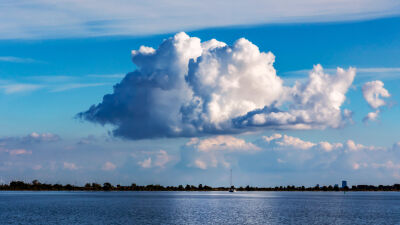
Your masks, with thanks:
M132 51L138 69L79 117L143 139L240 133L269 127L323 129L344 124L341 110L355 70L314 67L309 80L283 85L275 56L241 38L232 46L178 33L157 50Z

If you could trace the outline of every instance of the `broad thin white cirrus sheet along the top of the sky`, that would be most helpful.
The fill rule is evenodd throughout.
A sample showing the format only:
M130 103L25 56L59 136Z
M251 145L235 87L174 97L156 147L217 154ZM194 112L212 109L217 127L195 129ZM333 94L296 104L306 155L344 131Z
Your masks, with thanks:
M393 0L22 0L0 3L0 39L143 35L215 26L348 21L399 14Z

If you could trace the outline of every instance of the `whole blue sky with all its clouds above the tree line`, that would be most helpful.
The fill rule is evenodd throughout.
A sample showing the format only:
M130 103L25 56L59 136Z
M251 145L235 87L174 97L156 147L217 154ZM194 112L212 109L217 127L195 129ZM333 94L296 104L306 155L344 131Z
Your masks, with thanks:
M100 15L98 7L106 3L95 9L85 1L67 10L65 2L1 3L44 18L3 18L0 26L0 182L227 185L230 168L236 185L399 182L395 1L353 1L343 11L342 1L310 0L298 9L277 5L270 16L255 10L267 5L254 1L237 17L231 14L241 4L223 10L232 20L202 8L188 16L185 10L199 6L178 1L171 12L155 1L154 11L136 17L127 15L138 3ZM180 18L188 19L177 23ZM199 56L193 37L228 47L211 43L217 50L203 46ZM166 47L158 49L162 43ZM179 44L186 47L177 50ZM158 50L138 51L142 45ZM251 60L240 64L225 50ZM187 54L196 60L181 65L179 57ZM232 82L219 80L218 87L210 86L213 60L218 71L226 67L230 74L223 79L240 78L243 85L229 89ZM231 65L241 72L231 72ZM337 67L345 69L342 77L335 75ZM355 68L354 80L349 67ZM106 94L113 94L111 100L103 101ZM200 114L191 108L199 106L188 98L192 94L204 102ZM215 95L222 100L214 101ZM243 104L228 107L236 102ZM211 110L214 103L219 113Z

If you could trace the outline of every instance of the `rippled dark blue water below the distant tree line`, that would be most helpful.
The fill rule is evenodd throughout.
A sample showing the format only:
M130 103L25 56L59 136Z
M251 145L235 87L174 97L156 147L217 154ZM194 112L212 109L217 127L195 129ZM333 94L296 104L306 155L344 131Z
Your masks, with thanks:
M5 191L0 224L400 224L400 193Z

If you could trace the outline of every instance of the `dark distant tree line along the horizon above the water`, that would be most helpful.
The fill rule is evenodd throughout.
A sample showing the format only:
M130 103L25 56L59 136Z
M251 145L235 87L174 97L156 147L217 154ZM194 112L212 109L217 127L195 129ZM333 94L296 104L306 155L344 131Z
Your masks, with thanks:
M38 180L32 183L23 181L12 181L9 184L0 185L0 191L228 191L229 187L210 187L199 184L194 185L179 185L179 186L161 186L161 185L146 185L140 186L135 183L130 186L112 185L111 183L97 184L86 183L84 186L76 186L71 184L45 184ZM400 184L394 185L353 185L350 187L340 188L337 185L304 187L304 186L279 186L279 187L238 187L237 191L400 191Z

